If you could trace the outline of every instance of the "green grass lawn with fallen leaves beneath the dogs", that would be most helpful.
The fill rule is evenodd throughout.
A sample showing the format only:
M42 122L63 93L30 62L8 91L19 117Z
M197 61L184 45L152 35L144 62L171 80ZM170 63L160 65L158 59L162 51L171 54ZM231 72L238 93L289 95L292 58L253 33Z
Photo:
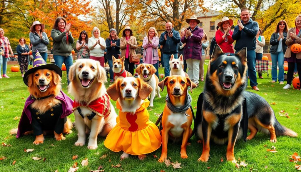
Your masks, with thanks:
M206 61L208 64L208 61ZM10 144L9 147L0 145L0 158L7 157L0 160L0 171L58 171L66 172L75 163L78 162L78 171L97 170L99 166L103 166L105 171L296 171L294 165L296 163L289 162L290 155L294 152L301 154L301 137L296 138L287 136L278 136L278 142L269 142L269 136L258 133L253 140L244 142L242 139L237 140L234 155L237 160L245 161L247 167L237 169L234 164L227 162L225 159L226 145L211 144L210 158L207 163L198 162L197 159L202 153L202 145L197 143L197 139L192 137L191 145L187 147L188 159L181 159L180 157L180 143L168 144L168 156L173 162L181 162L181 169L173 169L172 166L167 167L164 163L158 163L161 148L149 154L144 161L138 160L137 156L130 156L128 159L120 161L119 156L121 152L111 152L104 147L103 142L105 138L98 138L98 149L89 150L87 144L82 147L74 146L77 140L77 131L73 129L73 133L66 135L66 140L56 141L54 136L46 136L45 142L42 145L33 145L34 136L22 136L16 139L15 136L9 135L9 130L17 128L19 120L14 120L14 117L20 117L26 98L29 96L27 86L23 83L20 72L10 72L11 65L8 65L9 79L0 79L0 143L5 142ZM207 66L205 65L205 68ZM206 70L206 69L205 69ZM164 73L164 68L159 69L159 73ZM300 90L288 89L284 90L278 83L270 83L271 78L257 79L259 91L257 94L261 95L267 100L275 111L278 121L297 133L301 133L301 102ZM270 75L271 77L271 75ZM63 72L63 91L67 93L66 71ZM250 82L249 82L250 83ZM197 104L197 98L203 91L204 82L200 82L198 88L193 89L192 107ZM108 85L107 85L108 86ZM248 91L253 91L250 86ZM156 114L163 111L165 106L166 88L161 92L162 98L154 99L154 108L148 108L151 121L157 120ZM71 97L72 98L72 97ZM116 107L116 102L111 101ZM195 111L196 109L194 109ZM290 118L280 116L279 111L285 110ZM69 116L74 122L74 115ZM194 124L193 124L194 125ZM193 126L192 126L193 127ZM278 152L267 152L275 146ZM33 152L24 152L24 149L35 149ZM107 154L107 158L99 159L102 155ZM72 160L73 155L78 155L76 160ZM41 160L33 160L32 157L42 157ZM225 161L221 162L221 158ZM43 159L46 158L45 161ZM88 158L88 166L83 167L81 161ZM13 165L13 161L16 163ZM121 167L114 168L111 165L121 164ZM297 163L301 164L301 162ZM210 168L209 168L210 167Z

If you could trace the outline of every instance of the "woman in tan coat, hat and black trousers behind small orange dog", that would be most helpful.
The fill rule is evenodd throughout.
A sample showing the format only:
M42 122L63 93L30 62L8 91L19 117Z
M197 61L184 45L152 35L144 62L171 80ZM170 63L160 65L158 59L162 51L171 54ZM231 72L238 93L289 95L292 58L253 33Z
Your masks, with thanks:
M138 47L137 40L136 37L133 36L133 31L129 26L124 28L122 36L123 37L120 38L121 57L126 57L124 60L125 69L134 76L135 63L130 63L129 58L131 54L136 56L135 49Z

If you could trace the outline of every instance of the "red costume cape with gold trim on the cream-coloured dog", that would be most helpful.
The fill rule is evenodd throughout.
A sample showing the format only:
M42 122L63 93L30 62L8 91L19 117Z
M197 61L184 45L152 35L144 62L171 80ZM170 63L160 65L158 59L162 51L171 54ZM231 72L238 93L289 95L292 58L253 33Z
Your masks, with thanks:
M90 111L92 111L92 113L87 116L89 120L92 120L95 117L95 115L99 115L101 117L107 118L111 112L110 98L107 94L104 94L103 96L94 100L88 105L80 104L79 102L76 101L73 102L72 110L74 111L75 109L77 109L80 116L84 118L85 116L82 114L82 111L80 109L81 107L87 108Z

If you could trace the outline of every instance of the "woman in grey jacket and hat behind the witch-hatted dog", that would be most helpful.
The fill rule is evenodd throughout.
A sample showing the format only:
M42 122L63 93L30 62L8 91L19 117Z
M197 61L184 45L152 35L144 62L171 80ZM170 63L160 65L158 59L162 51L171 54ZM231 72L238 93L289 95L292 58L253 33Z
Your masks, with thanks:
M38 50L42 58L47 61L47 45L49 44L49 39L44 32L44 28L45 25L43 23L34 21L33 25L30 27L29 39L32 44L33 57L35 57L36 50Z

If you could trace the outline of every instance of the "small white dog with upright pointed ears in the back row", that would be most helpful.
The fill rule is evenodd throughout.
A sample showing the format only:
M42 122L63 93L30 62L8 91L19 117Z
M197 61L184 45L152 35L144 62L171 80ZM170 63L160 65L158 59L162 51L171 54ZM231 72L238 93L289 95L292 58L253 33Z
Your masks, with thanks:
M170 66L170 73L169 76L172 75L181 75L183 77L188 77L188 74L186 72L184 72L183 70L183 55L180 55L180 57L178 59L175 59L173 54L170 57L169 60L169 66Z

